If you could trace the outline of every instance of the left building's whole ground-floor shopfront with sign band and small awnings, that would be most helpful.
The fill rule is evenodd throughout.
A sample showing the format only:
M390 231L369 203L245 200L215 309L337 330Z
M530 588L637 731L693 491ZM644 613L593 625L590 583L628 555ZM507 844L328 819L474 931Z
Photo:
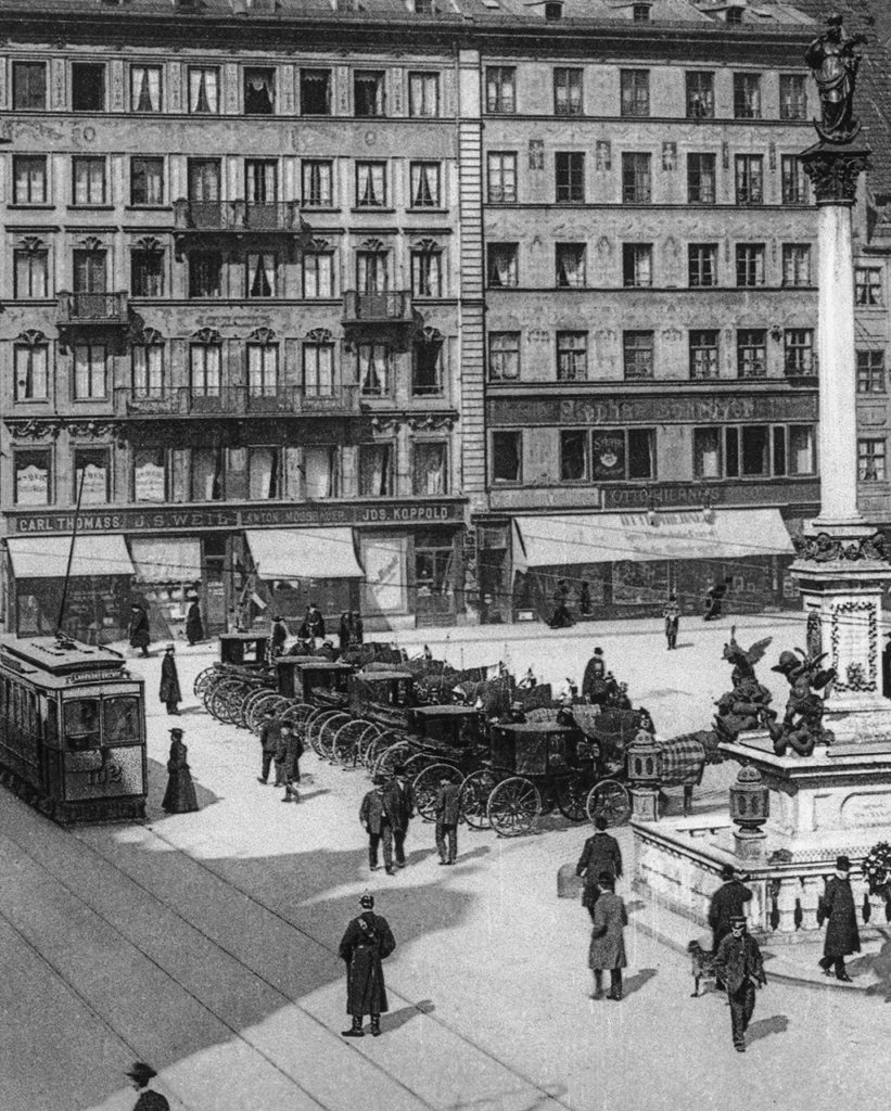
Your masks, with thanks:
M42 552L49 542L67 552L73 513L13 508L4 517L12 548ZM110 610L110 599L103 599L101 607L92 602L92 609L86 602L78 605L83 608L83 623L116 628L121 635L131 597L148 603L158 637L177 634L196 597L210 634L246 617L266 620L270 610L297 618L311 602L327 620L344 610L360 610L383 628L391 617L416 613L421 620L448 621L464 605L463 536L460 498L416 499L411 504L230 502L212 508L82 512L78 544L97 546L100 563L114 552L126 560L126 585L116 588L123 595L124 620L122 625L109 621L102 607ZM6 597L12 610L16 580L24 579L16 575L10 559L7 563ZM96 589L110 590L102 583L116 577L117 571L106 571ZM42 621L46 627L52 601L46 588L42 607L33 594L22 602L27 623L31 628Z

